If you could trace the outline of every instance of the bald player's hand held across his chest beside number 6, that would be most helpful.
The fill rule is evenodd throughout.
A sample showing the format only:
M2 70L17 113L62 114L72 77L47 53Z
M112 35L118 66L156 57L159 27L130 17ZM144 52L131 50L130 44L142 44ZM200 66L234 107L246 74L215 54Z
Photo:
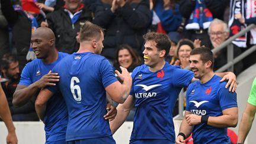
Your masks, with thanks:
M58 73L52 73L52 71L49 71L46 75L41 77L39 81L36 82L38 88L46 87L47 85L56 85L55 83L59 81L60 76Z

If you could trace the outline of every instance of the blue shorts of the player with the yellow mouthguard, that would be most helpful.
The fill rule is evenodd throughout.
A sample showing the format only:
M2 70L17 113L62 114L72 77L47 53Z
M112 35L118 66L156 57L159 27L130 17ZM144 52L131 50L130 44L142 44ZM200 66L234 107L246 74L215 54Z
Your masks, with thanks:
M175 144L168 139L135 139L130 144Z

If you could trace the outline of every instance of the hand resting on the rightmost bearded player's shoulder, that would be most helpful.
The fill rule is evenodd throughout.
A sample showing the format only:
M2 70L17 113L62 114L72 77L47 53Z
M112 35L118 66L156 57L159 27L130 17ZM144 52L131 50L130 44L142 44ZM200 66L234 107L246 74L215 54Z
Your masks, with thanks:
M227 75L223 76L222 79L220 79L220 82L223 82L225 80L228 80L228 83L226 84L225 88L228 88L229 86L229 91L235 92L236 87L237 87L237 82L236 82L236 76L235 73L233 72L228 72Z

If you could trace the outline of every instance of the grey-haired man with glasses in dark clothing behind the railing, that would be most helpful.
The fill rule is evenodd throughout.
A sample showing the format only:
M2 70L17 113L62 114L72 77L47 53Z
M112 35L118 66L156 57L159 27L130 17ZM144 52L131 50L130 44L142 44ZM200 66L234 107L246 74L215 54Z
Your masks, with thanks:
M215 18L208 28L208 34L210 37L210 41L212 43L212 49L219 47L226 39L229 37L229 28L228 25L217 18ZM233 57L240 55L242 52L239 47L233 45ZM227 49L226 47L220 50L219 52L215 53L215 65L213 71L221 68L223 65L227 63ZM243 64L242 62L236 63L234 66L234 73L238 75L242 72Z

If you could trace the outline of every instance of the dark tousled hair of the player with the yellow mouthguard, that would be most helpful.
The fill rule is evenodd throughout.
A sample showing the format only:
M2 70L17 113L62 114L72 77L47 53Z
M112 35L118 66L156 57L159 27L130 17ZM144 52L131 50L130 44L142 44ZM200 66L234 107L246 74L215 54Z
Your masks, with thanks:
M155 41L156 48L161 51L165 50L165 56L166 57L169 54L169 49L171 48L171 40L166 34L156 33L156 32L150 32L143 35L143 38L146 41Z

